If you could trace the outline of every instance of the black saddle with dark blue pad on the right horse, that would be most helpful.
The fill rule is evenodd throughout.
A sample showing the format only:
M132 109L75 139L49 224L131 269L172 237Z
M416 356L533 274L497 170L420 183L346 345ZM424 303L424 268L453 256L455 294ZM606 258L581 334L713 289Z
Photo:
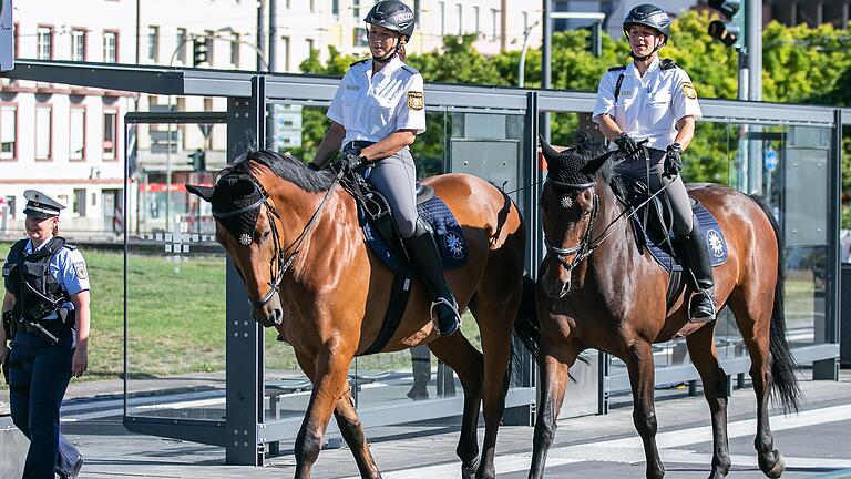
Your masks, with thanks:
M624 176L624 191L618 197L625 206L635 212L630 223L635 231L635 246L644 254L647 251L656 263L669 274L666 303L668 308L685 287L683 281L684 253L674 235L674 216L666 195L650 196L647 184L637 179ZM718 267L727 261L727 240L718 221L700 201L689 196L691 213L699 224L700 234L709 251L712 267Z

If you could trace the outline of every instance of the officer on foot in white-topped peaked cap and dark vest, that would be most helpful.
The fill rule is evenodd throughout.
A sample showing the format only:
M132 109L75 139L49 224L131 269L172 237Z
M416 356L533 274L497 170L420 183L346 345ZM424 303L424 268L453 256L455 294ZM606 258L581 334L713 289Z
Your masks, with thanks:
M59 431L59 409L71 376L88 368L89 275L82 254L58 235L65 206L35 190L23 196L29 238L3 264L0 361L12 421L30 439L23 478L75 478L83 458Z

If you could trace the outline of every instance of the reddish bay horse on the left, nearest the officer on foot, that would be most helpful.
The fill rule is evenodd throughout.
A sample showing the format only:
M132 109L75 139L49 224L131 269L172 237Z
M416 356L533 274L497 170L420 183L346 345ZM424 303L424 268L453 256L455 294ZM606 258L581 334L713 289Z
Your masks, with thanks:
M216 241L245 283L254 318L264 327L275 327L280 339L293 346L312 381L295 444L297 479L310 477L331 414L361 477L381 477L355 410L347 374L352 358L381 332L393 273L367 247L356 202L338 186L340 177L259 150L223 170L212 187L186 185L212 203ZM469 308L479 324L482 353L460 332L439 337L430 317L431 298L419 277L398 329L381 351L428 344L454 369L464 389L457 448L462 476L493 478L512 330L524 291L524 223L511 198L484 180L444 174L423 183L447 203L466 240L468 262L447 271L447 281L459 310ZM530 304L532 299L527 297ZM479 458L481 402L485 434Z

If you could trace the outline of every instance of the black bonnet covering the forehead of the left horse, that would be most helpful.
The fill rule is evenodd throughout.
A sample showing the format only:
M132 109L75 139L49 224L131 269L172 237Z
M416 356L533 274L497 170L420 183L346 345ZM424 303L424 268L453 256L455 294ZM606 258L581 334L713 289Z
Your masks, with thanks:
M247 235L248 240L254 238L254 227L257 224L257 216L260 213L258 207L250 208L240 214L229 216L237 210L242 210L264 200L263 192L257 187L250 176L245 174L227 174L216 182L216 191L213 193L211 203L213 212L218 216L217 220L222 226L227 230L243 245L250 244L243 238Z

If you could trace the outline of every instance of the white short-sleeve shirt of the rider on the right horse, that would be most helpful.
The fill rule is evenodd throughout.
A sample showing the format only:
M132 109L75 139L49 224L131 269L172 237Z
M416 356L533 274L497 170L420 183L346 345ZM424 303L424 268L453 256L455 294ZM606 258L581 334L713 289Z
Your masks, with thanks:
M621 92L615 102L617 78L624 74ZM635 63L626 69L612 69L603 75L597 89L597 103L592 119L607 114L635 141L649 140L648 147L665 150L677 135L676 123L684 116L703 116L697 92L685 70L670 65L662 68L656 58L638 75ZM609 147L615 147L614 144Z

